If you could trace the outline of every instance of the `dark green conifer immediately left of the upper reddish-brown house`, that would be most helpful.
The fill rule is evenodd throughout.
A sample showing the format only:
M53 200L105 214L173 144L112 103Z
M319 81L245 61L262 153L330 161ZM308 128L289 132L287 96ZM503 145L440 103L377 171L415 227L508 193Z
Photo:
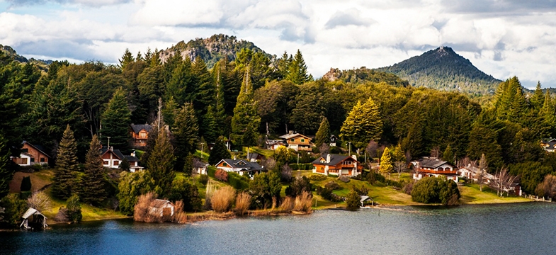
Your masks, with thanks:
M108 101L106 111L101 116L102 136L110 146L127 152L130 142L129 125L131 123L131 111L127 106L127 98L122 88L116 89L114 95ZM106 137L106 138L105 138Z

